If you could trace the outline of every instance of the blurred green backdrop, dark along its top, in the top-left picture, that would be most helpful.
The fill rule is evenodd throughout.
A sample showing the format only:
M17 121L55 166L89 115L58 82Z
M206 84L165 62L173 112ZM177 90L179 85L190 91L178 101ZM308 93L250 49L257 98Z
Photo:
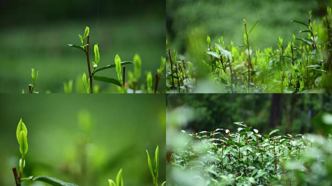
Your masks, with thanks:
M156 0L5 0L0 6L0 92L21 93L32 83L31 68L39 71L35 90L63 93L63 82L72 79L74 92L83 92L82 75L88 74L85 54L67 44L79 44L78 34L90 27L90 44L99 45L100 63L142 59L145 73L156 73L165 56L165 1ZM90 60L93 48L90 47ZM127 65L126 72L133 70ZM100 75L116 78L116 70ZM159 90L165 90L165 76ZM102 92L116 86L97 82ZM76 91L75 91L76 90Z

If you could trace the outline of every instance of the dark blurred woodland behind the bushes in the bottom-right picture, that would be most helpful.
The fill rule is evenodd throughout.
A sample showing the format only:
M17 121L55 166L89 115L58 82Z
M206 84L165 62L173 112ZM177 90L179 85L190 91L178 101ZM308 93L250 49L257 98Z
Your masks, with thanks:
M193 113L183 112L178 116L189 121L187 125L180 124L179 130L200 132L223 128L236 131L238 125L233 123L244 122L263 134L276 128L281 134L332 131L332 125L321 122L321 115L332 111L332 94L327 93L168 94L167 110L178 108L193 109Z

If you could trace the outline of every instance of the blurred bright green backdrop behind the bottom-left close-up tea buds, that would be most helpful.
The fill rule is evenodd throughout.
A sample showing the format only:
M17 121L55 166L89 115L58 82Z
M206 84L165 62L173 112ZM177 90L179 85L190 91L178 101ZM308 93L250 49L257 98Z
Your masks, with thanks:
M20 118L28 128L25 176L106 186L122 168L126 186L152 186L145 150L153 158L159 145L159 180L166 179L165 95L1 94L0 104L1 186L15 185Z

